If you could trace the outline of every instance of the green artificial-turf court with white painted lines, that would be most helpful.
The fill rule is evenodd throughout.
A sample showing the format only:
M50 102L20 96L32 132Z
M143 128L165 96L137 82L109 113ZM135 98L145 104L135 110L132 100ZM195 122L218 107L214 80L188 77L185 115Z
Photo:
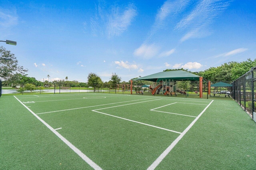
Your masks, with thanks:
M255 168L256 124L234 101L79 93L0 102L0 169Z

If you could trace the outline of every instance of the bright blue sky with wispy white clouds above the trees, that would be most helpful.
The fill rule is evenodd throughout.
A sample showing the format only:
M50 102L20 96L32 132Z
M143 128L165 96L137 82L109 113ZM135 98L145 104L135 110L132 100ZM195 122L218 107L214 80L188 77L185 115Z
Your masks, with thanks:
M36 80L122 81L256 58L255 0L0 0L0 44Z

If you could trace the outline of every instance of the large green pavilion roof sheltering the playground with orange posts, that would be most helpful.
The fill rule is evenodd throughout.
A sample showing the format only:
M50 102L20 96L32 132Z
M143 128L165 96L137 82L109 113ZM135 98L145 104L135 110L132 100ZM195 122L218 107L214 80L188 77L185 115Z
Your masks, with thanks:
M190 72L186 72L183 70L176 70L176 71L164 71L164 72L158 72L155 74L151 74L148 76L140 77L140 78L135 78L134 80L148 80L152 82L160 82L162 80L190 80L190 81L195 81L199 80L200 76L196 74L192 74Z

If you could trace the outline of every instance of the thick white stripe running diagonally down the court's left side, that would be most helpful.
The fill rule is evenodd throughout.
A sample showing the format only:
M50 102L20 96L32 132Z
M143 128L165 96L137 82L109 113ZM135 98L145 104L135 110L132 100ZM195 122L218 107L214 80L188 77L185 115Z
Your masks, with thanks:
M14 98L16 98L14 96ZM16 98L18 100L18 98ZM20 100L18 100L30 113L32 113L38 120L40 120L48 129L50 129L56 136L58 136L68 147L70 147L76 154L78 154L86 163L88 163L92 168L95 170L102 170L100 166L98 166L95 162L90 160L83 152L81 152L78 148L76 148L72 143L70 143L66 138L64 138L60 133L58 133L56 130L54 130L48 123L46 123L43 119L41 119L38 115L36 115L32 110L30 110L26 105L24 105Z

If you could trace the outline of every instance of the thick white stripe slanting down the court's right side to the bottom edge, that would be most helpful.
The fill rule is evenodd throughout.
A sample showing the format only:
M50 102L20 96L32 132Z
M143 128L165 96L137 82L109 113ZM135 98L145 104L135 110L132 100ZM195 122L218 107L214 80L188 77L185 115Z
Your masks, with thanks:
M212 102L213 101L214 100L212 100ZM192 121L192 123L190 123L190 125L171 143L171 145L166 150L164 150L162 154L160 154L160 156L148 167L148 170L154 170L160 164L160 162L162 162L162 160L175 147L175 145L180 141L180 139L182 139L182 137L189 131L189 129L196 123L196 121L201 117L204 111L206 111L206 109L212 104L212 102L210 102L210 104L208 104L204 108L204 110L196 117L196 119L194 119L194 121Z

